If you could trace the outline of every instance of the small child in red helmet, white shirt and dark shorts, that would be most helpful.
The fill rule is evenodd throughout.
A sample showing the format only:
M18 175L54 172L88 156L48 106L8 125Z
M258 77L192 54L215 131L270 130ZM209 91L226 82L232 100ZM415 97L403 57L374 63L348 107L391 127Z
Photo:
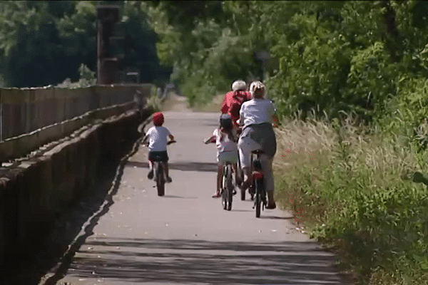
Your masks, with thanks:
M173 180L169 177L168 173L168 152L166 150L167 138L174 140L174 136L171 135L170 131L163 127L163 122L165 118L163 113L158 112L153 114L153 127L148 129L146 136L143 138L143 144L148 140L148 165L150 170L148 171L148 179L153 178L153 161L156 159L156 156L161 157L163 165L165 165L165 176L166 182L170 183Z

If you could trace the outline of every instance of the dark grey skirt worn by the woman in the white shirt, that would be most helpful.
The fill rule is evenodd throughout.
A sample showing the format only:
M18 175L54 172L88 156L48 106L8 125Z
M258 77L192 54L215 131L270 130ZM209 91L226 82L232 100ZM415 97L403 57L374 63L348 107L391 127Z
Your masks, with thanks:
M274 157L276 153L276 137L272 124L262 123L248 125L240 135L241 138L250 137L262 146L263 152L269 157Z

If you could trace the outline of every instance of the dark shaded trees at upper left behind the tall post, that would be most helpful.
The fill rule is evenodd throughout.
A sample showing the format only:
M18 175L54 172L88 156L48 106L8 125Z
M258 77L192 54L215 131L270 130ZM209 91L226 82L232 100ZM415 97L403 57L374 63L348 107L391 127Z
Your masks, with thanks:
M96 6L118 4L123 22L117 24L134 38L124 65L140 71L143 82L167 81L170 70L160 65L156 34L139 1L1 1L0 73L7 86L54 85L79 79L83 63L96 70ZM111 51L123 53L123 41ZM117 49L119 47L119 50ZM115 49L116 48L116 49ZM121 54L123 55L123 54Z

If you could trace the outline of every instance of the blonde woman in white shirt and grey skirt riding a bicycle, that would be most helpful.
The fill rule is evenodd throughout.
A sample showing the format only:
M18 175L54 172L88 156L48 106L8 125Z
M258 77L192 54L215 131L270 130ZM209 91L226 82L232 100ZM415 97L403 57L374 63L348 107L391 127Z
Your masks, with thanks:
M243 190L246 190L251 184L251 152L263 150L264 153L260 155L260 160L265 175L265 190L268 199L266 209L275 209L272 160L277 145L272 127L277 127L279 120L272 101L265 99L265 85L263 83L260 81L251 83L250 93L253 95L253 99L243 103L239 120L240 125L243 125L243 131L238 141L240 163L244 170Z

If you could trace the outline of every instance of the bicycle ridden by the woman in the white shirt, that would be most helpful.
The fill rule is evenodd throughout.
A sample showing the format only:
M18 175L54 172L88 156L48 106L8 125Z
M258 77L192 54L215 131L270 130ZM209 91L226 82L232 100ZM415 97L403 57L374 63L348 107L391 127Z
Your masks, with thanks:
M263 150L253 150L251 152L251 185L249 192L254 193L254 206L255 217L260 218L260 212L265 209L267 205L266 201L266 190L264 185L264 175L262 170L262 162L260 155L264 152ZM254 155L256 155L254 159Z

